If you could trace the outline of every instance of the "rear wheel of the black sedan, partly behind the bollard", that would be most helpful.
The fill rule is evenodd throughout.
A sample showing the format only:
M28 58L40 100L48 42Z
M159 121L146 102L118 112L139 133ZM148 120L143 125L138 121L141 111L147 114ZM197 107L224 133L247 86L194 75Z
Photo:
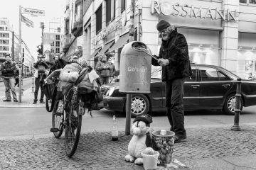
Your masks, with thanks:
M242 98L240 99L240 110L242 111ZM235 94L230 94L224 103L224 111L227 115L234 115L235 114Z

